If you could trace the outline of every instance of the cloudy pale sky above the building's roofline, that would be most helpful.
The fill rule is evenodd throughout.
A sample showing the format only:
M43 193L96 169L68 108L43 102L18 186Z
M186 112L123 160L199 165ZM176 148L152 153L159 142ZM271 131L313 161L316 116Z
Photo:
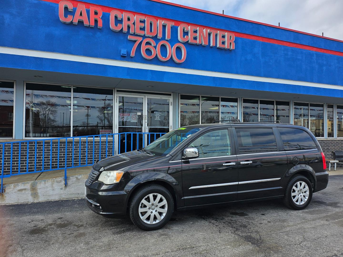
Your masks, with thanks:
M343 40L343 0L165 1Z

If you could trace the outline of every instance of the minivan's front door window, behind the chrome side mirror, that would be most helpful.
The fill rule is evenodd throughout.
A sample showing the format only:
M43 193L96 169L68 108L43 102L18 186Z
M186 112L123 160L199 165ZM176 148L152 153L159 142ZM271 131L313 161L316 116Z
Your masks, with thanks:
M193 141L188 147L196 147L199 158L231 155L231 145L227 130L215 130L205 133Z

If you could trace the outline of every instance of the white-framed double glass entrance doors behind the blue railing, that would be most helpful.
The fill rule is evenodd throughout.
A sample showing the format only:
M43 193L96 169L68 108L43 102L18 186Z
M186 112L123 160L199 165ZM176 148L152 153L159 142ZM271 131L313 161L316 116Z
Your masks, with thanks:
M118 94L116 110L118 153L145 147L171 130L171 97Z

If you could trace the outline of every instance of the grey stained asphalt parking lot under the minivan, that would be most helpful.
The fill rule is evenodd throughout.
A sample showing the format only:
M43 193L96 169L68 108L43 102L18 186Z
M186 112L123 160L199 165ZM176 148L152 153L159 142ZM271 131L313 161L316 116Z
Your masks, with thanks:
M1 256L343 256L343 175L302 211L279 200L197 209L148 232L96 215L83 199L0 211Z

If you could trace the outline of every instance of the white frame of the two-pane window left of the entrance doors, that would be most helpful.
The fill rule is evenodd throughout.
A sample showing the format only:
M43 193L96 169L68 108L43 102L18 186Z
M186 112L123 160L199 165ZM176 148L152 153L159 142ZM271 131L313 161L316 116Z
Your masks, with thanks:
M73 110L73 88L74 87L94 88L94 86L92 87L92 86L81 86L81 85L71 85L71 84L59 84L59 83L45 83L45 82L24 81L23 139L34 139L34 140L38 140L38 139L42 139L42 140L43 139L54 139L54 138L59 138L59 137L26 137L25 136L26 83L71 87L71 103L70 103L70 109L71 110ZM108 88L108 87L96 87L96 88L113 90L113 103L115 104L115 88ZM113 119L114 119L114 115L115 115L115 110L113 109ZM14 117L13 117L13 119L14 119ZM67 138L72 137L72 135L73 135L73 111L71 111L70 119L71 119L71 121L70 121L70 136L68 136ZM112 132L113 133L114 133L114 128L115 128L115 125L114 125L114 122L113 122L113 126L112 126ZM65 138L65 137L60 137L60 138ZM106 140L106 138L102 138L102 140Z

